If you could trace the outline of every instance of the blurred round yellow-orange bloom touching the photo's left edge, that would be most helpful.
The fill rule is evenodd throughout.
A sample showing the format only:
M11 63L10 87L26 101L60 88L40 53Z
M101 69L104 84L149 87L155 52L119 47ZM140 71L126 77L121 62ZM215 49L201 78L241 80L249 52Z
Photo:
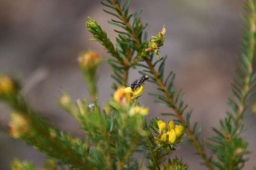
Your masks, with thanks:
M2 75L0 76L0 94L1 93L10 93L14 90L13 81L9 76Z

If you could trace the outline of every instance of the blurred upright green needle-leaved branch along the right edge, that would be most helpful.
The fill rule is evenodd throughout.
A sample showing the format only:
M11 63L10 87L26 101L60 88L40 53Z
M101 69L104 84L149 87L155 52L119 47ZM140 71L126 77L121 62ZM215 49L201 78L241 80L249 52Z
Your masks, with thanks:
M255 46L256 46L256 3L254 0L248 0L246 3L246 9L249 13L247 17L247 29L244 32L244 43L241 52L241 69L238 69L238 72L241 72L244 76L240 78L240 83L242 89L240 89L241 97L238 99L238 113L235 122L236 131L243 123L243 117L247 110L247 100L250 97L250 90L254 86L255 76L253 64L255 61ZM242 70L243 69L243 70ZM239 78L239 77L238 77ZM233 85L233 92L234 92Z

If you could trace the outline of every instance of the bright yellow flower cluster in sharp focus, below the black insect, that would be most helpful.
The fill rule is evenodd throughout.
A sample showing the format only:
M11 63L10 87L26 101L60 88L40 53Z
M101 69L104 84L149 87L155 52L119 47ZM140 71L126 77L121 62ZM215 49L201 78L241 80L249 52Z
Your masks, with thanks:
M183 134L184 127L182 125L176 125L174 128L174 121L170 121L167 132L166 132L166 123L162 120L157 122L159 133L160 133L160 141L161 142L169 142L170 144L174 144L177 137Z

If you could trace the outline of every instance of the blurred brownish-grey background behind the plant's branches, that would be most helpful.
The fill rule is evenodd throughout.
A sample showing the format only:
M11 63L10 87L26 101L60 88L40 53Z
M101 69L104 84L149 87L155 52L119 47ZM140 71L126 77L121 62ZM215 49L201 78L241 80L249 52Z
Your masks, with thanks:
M219 127L232 96L230 83L234 78L236 57L242 37L244 0L131 0L130 12L144 8L141 15L149 23L148 35L156 35L166 25L165 45L161 55L168 55L166 72L176 73L176 90L183 87L186 102L193 108L191 121L202 125L202 137L213 135L212 126ZM56 96L68 90L73 99L89 99L82 71L77 64L78 53L94 50L110 57L98 42L89 42L91 34L85 27L87 16L95 19L114 41L110 16L102 11L98 0L1 0L0 1L0 73L15 74L27 85L27 99L41 115L58 128L81 137L83 132L68 113L61 110ZM111 98L111 69L102 63L99 70L101 105ZM41 80L33 85L35 77ZM139 78L131 70L129 82ZM31 83L32 82L32 83ZM32 85L31 85L32 84ZM147 83L140 102L150 108L150 117L160 116L167 108L154 104L147 92L156 86ZM161 117L161 116L160 116ZM163 117L163 119L171 119ZM8 135L9 109L0 104L0 170L9 170L14 158L43 166L45 156L24 142ZM247 120L250 129L244 134L249 149L254 151L245 170L256 167L256 117ZM190 170L205 170L202 161L193 155L192 146L181 145L182 156ZM209 152L209 151L208 151ZM172 155L174 157L175 155Z

